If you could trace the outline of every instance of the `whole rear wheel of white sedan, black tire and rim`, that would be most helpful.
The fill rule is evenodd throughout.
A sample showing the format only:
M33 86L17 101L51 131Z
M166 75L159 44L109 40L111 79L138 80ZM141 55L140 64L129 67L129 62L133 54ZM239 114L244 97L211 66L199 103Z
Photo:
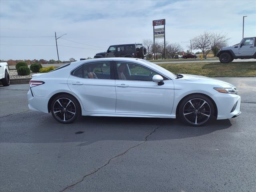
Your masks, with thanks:
M67 124L80 116L81 107L74 96L61 94L52 100L51 113L58 122Z

